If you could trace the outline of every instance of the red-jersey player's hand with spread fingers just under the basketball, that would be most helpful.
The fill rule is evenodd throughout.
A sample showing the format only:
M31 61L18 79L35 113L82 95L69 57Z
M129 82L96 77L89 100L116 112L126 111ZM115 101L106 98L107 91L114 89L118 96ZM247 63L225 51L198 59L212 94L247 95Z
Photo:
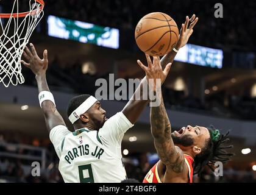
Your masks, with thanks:
M156 90L156 79L161 79L161 83L165 82L166 77L168 76L169 70L171 69L171 63L165 66L165 69L162 69L162 65L159 57L153 57L153 63L148 54L146 54L146 59L148 61L148 66L143 65L140 60L137 60L138 65L145 71L146 78L154 80L154 91Z

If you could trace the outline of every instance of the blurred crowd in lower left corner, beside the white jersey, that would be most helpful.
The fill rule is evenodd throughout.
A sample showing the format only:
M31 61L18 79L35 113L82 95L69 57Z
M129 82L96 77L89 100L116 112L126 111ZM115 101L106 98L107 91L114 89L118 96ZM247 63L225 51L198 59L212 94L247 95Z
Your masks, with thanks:
M46 151L45 165L41 160ZM59 159L49 139L40 140L24 133L0 133L0 183L60 183L63 182L58 169ZM32 176L32 162L40 163L39 177Z

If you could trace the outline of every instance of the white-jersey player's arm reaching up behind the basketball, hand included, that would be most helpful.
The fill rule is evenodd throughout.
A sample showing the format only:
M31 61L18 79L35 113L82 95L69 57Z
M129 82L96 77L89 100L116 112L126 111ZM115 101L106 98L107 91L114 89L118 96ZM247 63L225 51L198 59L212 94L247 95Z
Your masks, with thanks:
M179 50L185 44L187 44L188 39L190 38L191 34L193 33L193 27L196 25L198 21L198 18L196 18L196 15L193 15L190 19L188 16L186 17L185 24L182 24L182 27L180 29L180 35L179 35L179 40L177 41L177 44L175 48ZM188 23L191 22L190 27L188 28ZM177 52L171 51L169 54L166 54L162 59L161 59L161 65L165 66L168 63L172 63ZM151 59L148 55L146 55L147 61L148 61L148 66L152 65ZM140 60L138 60L138 64L141 66L142 63ZM162 77L162 83L165 81L167 75L163 75ZM146 105L149 103L149 100L135 100L136 96L142 97L143 94L143 85L147 85L147 80L146 77L144 77L138 88L136 89L135 93L133 94L132 98L130 98L129 102L126 104L126 106L123 108L123 113L126 115L127 119L129 119L132 124L134 124L138 118L140 117L141 113L143 112L144 108ZM136 94L136 95L135 95Z

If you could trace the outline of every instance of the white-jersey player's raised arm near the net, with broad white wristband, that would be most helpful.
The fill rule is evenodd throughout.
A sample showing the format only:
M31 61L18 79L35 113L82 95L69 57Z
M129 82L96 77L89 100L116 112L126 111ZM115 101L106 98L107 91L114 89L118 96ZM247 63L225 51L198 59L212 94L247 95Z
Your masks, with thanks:
M24 58L29 63L24 62L23 60L21 60L21 63L23 63L24 66L27 66L28 68L30 68L32 72L35 74L35 79L37 80L39 93L41 91L50 91L46 81L46 70L48 68L47 50L44 50L43 59L41 60L38 57L37 51L35 50L35 47L32 43L30 43L30 47L31 47L31 51L26 46L23 52ZM57 111L57 109L55 108L55 105L51 101L49 100L43 101L41 107L42 107L48 132L50 132L51 129L55 126L58 126L58 125L66 126L62 116Z

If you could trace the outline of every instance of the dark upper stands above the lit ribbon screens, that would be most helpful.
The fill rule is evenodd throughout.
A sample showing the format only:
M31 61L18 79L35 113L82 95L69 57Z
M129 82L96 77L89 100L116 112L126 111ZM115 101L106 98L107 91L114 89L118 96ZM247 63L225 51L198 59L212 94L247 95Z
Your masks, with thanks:
M46 4L46 13L116 27L121 33L130 30L131 34L140 18L151 12L167 13L174 18L178 26L184 23L185 16L195 13L199 17L199 23L195 27L196 34L191 37L190 43L216 48L225 46L255 50L256 2L220 2L224 9L223 18L215 18L216 1L213 0L49 0ZM126 43L130 44L127 37L126 40Z

